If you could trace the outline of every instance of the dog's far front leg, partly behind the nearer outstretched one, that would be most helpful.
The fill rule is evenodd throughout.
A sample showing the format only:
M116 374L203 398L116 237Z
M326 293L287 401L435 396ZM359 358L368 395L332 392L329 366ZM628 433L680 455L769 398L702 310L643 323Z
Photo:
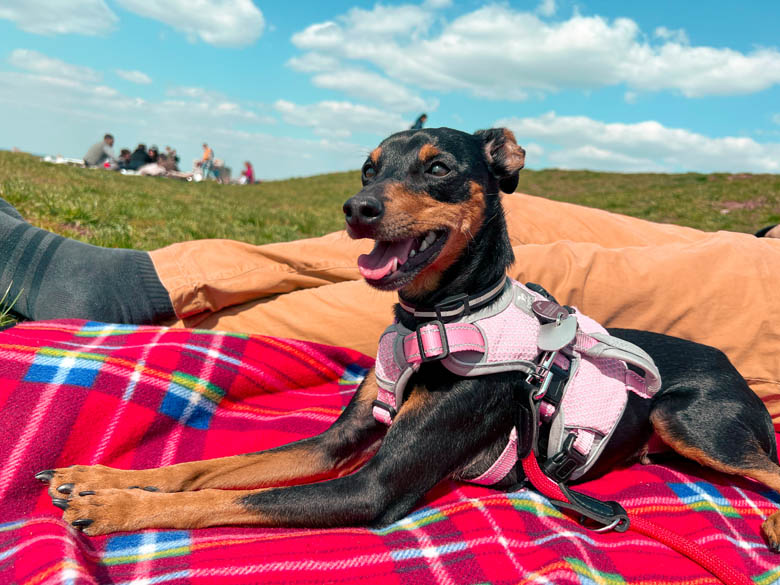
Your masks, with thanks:
M371 414L376 397L372 370L327 431L259 453L142 470L75 465L42 471L36 477L49 482L49 495L61 508L67 506L69 497L106 489L180 492L259 488L337 477L360 466L379 448L386 427Z

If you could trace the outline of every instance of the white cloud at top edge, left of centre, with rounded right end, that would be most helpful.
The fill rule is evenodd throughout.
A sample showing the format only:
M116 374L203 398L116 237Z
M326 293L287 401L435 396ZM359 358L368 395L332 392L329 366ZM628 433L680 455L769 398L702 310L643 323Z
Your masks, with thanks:
M187 34L193 41L217 47L254 43L265 28L263 13L252 0L117 0L127 10L159 20Z

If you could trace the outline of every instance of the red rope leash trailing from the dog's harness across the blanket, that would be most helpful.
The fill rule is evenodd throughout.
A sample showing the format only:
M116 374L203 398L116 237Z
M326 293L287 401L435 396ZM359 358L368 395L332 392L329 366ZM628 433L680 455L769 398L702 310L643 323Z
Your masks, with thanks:
M539 490L542 495L553 500L569 503L569 498L561 487L547 477L539 467L539 462L536 460L536 456L533 452L529 453L523 459L523 471L525 471L531 485ZM669 548L676 550L684 557L689 558L703 569L712 573L726 585L754 585L751 579L742 573L738 573L732 567L726 565L719 558L710 554L693 541L688 540L671 530L667 530L663 526L634 516L633 514L629 514L629 522L630 530L653 538Z

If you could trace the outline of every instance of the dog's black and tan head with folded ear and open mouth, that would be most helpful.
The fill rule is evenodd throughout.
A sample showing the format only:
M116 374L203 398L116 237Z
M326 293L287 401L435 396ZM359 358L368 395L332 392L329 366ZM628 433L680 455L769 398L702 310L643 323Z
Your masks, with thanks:
M363 165L363 189L344 204L349 235L376 241L358 259L363 278L419 299L464 264L484 239L484 226L496 224L494 238L503 245L498 193L515 190L524 162L525 151L504 128L474 134L434 128L387 138Z

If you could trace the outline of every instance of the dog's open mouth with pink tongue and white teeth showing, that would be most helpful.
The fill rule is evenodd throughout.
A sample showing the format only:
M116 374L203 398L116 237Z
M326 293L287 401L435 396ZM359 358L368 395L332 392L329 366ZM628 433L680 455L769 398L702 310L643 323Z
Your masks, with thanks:
M431 230L403 240L377 240L371 253L358 258L360 274L375 288L399 289L436 259L446 241L446 230Z

